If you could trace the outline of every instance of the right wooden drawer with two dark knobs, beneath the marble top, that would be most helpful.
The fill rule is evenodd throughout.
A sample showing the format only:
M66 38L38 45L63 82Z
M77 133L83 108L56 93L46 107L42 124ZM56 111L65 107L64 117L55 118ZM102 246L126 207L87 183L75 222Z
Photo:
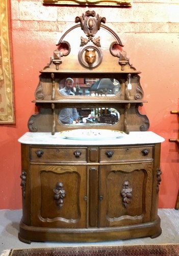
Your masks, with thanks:
M153 146L101 147L99 162L131 162L152 160Z

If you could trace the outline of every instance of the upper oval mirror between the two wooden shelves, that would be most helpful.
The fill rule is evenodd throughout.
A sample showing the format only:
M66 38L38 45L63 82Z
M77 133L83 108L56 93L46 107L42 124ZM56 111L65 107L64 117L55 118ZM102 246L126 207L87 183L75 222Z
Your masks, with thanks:
M70 89L66 84L71 79ZM120 92L121 83L115 78L67 78L59 82L58 92L63 95L114 96ZM64 93L64 89L68 91Z

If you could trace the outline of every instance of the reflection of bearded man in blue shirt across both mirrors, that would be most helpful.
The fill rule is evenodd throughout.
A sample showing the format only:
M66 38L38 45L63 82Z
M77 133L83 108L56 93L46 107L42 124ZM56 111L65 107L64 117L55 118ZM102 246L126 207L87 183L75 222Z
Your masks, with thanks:
M59 90L59 92L63 95L74 95L74 93L72 92L73 82L74 81L72 78L67 78L65 80L65 87ZM79 118L79 115L76 108L64 108L60 111L60 114L59 114L59 120L63 124L71 124L73 123L73 121L75 121L76 123L79 123L78 118Z

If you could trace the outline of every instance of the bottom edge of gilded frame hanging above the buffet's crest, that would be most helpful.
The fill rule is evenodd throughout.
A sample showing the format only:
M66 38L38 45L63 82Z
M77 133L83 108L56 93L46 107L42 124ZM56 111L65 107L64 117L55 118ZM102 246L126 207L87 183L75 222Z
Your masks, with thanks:
M42 3L50 5L103 5L131 7L132 0L42 0Z

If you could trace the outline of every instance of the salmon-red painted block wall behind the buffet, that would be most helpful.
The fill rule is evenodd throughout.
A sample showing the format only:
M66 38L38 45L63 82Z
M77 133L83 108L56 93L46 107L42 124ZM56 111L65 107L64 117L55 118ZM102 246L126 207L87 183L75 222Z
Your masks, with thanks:
M41 0L10 0L14 65L15 125L0 125L0 209L21 208L20 144L28 119L39 71L56 49L59 33L74 25L88 7L43 6ZM161 150L162 182L159 207L174 208L179 186L179 4L176 0L133 0L132 8L93 7L118 33L133 66L140 70L144 99L140 109L150 120L149 130L165 138ZM75 39L75 38L74 38Z

